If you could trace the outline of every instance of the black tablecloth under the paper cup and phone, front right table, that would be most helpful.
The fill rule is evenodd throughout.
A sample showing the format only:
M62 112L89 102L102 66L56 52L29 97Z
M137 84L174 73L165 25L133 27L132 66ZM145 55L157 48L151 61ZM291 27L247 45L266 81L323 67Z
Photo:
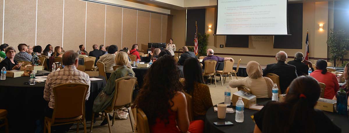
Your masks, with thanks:
M258 104L266 104L270 99L259 98L257 99ZM233 107L233 106L228 106ZM213 111L213 107L209 108L206 113L205 120L205 133L253 133L254 125L251 116L254 113L257 113L257 110L247 109L244 110L244 122L237 123L235 122L235 113L227 113L225 119L218 119L217 112ZM342 129L342 133L349 132L349 119L348 116L339 115L336 113L326 112L324 113L333 121L334 124L339 126ZM230 121L234 123L234 125L230 126L216 126L213 122L225 122Z

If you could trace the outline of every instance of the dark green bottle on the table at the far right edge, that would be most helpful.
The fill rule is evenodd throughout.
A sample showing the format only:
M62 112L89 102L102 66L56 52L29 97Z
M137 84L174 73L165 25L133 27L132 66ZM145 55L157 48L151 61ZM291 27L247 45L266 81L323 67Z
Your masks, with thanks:
M337 111L340 115L347 115L347 94L346 91L344 91L343 88L340 88L339 91L337 91Z

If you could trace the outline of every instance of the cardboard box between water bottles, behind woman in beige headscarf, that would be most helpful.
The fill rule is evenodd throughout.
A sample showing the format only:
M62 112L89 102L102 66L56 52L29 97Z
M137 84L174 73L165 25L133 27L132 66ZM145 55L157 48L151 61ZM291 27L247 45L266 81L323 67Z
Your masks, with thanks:
M257 97L255 95L252 95L250 93L247 93L245 91L237 91L233 93L233 96L231 98L232 105L235 106L236 102L238 101L238 98L241 97L242 101L244 102L245 108L248 108L252 105L252 103L257 103Z

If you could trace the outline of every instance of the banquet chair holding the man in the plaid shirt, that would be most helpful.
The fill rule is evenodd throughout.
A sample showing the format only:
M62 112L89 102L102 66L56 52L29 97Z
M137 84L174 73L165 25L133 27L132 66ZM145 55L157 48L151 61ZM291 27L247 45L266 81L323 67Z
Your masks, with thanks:
M54 109L52 118L45 117L44 133L46 129L51 133L51 126L77 123L83 124L86 133L85 99L89 85L81 83L67 83L53 87Z

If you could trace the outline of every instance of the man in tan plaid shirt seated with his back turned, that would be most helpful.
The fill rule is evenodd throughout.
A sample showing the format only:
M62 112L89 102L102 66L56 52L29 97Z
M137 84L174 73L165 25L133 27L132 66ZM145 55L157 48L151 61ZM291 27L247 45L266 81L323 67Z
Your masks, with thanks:
M54 109L54 95L53 95L53 87L65 84L65 83L82 83L89 85L87 94L86 94L86 100L88 100L90 96L90 86L91 81L88 74L77 70L76 67L78 66L78 54L74 52L73 50L69 50L64 53L62 56L62 64L65 66L63 69L56 70L55 72L50 73L47 76L46 83L45 83L45 89L44 89L44 99L49 102L48 107L46 107L44 115L46 117L51 118L53 109ZM61 127L57 128L59 132L64 132L66 130L69 130L70 125L62 125Z

